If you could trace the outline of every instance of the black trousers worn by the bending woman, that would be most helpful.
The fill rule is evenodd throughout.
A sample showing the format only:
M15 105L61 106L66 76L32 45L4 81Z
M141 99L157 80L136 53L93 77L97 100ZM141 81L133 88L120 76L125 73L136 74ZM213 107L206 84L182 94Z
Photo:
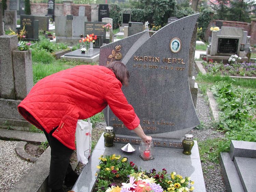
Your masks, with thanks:
M73 150L63 145L55 137L53 132L58 127L54 128L50 133L47 133L43 128L43 132L47 138L49 146L51 147L51 164L48 178L48 187L51 189L61 189L65 176L74 172L69 163L69 159Z

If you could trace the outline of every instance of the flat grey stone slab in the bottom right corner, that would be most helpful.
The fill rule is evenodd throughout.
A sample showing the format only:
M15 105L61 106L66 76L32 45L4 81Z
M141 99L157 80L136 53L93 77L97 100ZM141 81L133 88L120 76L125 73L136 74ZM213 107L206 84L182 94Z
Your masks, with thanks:
M254 181L256 178L256 159L234 157L234 165L237 168L244 191L255 192Z

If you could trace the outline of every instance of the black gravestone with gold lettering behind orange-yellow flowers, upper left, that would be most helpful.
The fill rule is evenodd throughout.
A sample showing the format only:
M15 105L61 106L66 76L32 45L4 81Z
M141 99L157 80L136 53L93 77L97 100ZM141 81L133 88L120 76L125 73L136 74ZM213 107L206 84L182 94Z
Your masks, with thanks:
M39 21L35 20L33 15L20 15L20 29L23 29L25 26L26 38L25 41L38 41L38 32L39 32Z

